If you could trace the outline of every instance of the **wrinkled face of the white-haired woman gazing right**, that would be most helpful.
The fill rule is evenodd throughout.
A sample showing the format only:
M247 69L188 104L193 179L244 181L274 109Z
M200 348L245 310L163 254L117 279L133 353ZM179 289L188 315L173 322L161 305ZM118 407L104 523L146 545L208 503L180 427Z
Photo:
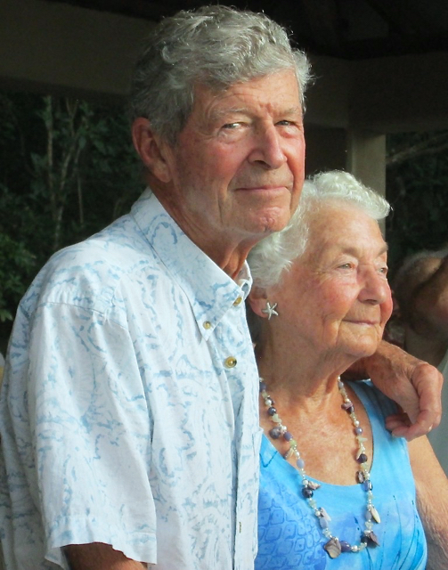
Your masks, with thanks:
M270 325L310 350L356 359L373 354L392 311L379 225L352 206L322 208L312 219L305 255L267 294L280 315Z

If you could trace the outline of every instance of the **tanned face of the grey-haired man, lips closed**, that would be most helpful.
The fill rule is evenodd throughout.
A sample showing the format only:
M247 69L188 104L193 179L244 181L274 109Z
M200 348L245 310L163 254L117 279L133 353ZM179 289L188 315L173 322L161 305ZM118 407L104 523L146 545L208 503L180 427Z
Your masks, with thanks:
M305 141L291 70L232 85L204 85L174 148L171 180L160 195L191 240L229 248L281 230L297 207ZM213 257L213 256L212 256Z

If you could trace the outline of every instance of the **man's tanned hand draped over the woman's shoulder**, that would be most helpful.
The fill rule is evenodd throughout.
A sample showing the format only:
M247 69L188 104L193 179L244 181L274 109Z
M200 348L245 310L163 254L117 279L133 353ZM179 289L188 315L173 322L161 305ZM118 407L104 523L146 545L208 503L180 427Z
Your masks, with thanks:
M362 373L363 371L363 373ZM370 378L403 410L389 416L386 427L394 436L411 441L436 428L442 415L441 392L444 378L434 366L395 345L382 341L378 351L356 362L358 378Z

